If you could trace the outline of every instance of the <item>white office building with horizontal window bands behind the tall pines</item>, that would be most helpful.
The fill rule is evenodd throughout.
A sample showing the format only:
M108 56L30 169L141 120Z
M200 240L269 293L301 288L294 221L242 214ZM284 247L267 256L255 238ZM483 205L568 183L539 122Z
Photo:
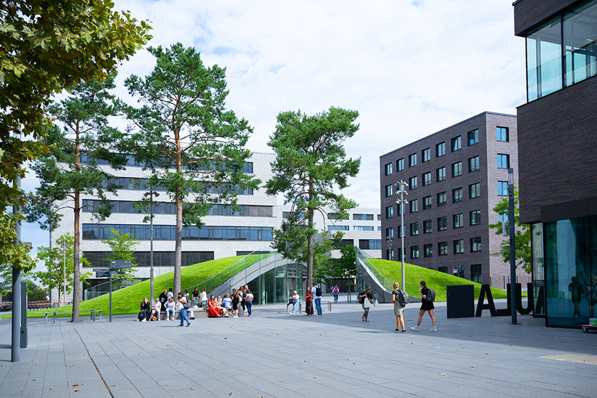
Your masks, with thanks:
M253 153L245 165L245 172L255 175L262 183L272 177L270 163L275 160L272 153ZM85 159L83 159L85 161ZM108 167L106 165L106 167ZM89 266L83 266L82 273L90 272L87 278L89 285L83 289L102 283L105 279L97 278L93 269L108 266L106 257L110 248L102 240L112 237L110 227L118 230L121 235L130 232L136 237L135 246L136 277L139 280L149 278L150 265L150 224L144 223L146 213L139 213L133 203L142 199L149 189L145 187L144 178L149 171L144 171L131 159L124 170L111 170L115 175L111 183L118 184L121 189L107 196L112 200L112 214L98 223L93 219L92 208L97 205L97 198L81 195L81 252L90 261ZM165 193L156 191L156 205L153 207L153 265L154 275L168 273L174 270L174 226L176 224L176 209ZM204 217L205 225L198 229L188 227L183 229L182 266L214 260L214 258L247 255L251 252L269 247L272 242L272 232L280 227L285 212L290 206L278 206L275 196L266 195L265 189L245 189L238 192L240 211L232 211L227 206L214 205L210 214ZM356 244L365 249L368 254L380 257L380 221L379 209L352 209L350 220L336 221L316 219L319 228L336 228L346 234L341 245ZM53 245L61 235L73 230L72 209L63 210L60 227L52 233ZM134 283L134 282L131 282ZM53 295L57 297L57 292Z

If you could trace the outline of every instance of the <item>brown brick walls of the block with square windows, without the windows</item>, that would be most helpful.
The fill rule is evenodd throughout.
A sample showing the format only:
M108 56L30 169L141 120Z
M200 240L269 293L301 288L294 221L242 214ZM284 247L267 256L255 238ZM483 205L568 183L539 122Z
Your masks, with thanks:
M507 127L510 131L510 141L507 143L496 141L496 127ZM479 143L468 146L467 132L479 129ZM460 135L462 147L460 150L451 152L451 138ZM380 156L380 197L381 197L381 240L382 257L386 258L386 229L393 227L394 240L392 248L395 251L395 260L398 260L398 251L401 248L400 238L398 237L400 216L395 201L398 196L393 195L390 198L385 197L385 187L395 184L404 179L408 182L410 177L417 175L418 188L408 190L408 200L418 199L418 212L405 212L404 224L407 232L404 237L404 246L406 251L405 261L416 264L421 267L438 270L439 267L448 267L451 273L453 267L466 266L464 276L471 279L472 264L482 264L482 282L493 283L501 286L501 277L509 275L509 266L497 257L491 257L490 252L497 251L501 236L494 235L489 231L487 224L497 221L497 214L493 213L493 207L501 199L497 195L497 181L507 181L507 170L497 169L497 153L507 153L510 155L510 166L518 166L518 153L516 151L516 117L512 115L501 115L497 113L481 113L466 121L460 122L452 127L443 129L435 134L429 135L412 144L396 149L386 155ZM444 141L446 143L446 154L436 158L435 145ZM421 151L431 149L431 160L421 162ZM408 155L417 153L417 165L408 167ZM469 172L468 159L473 156L479 156L481 169L479 171ZM405 169L396 171L396 161L404 158ZM463 174L458 177L451 177L451 165L461 161L463 163ZM385 175L384 166L392 163L393 173ZM445 166L447 179L436 181L436 169ZM432 183L423 187L423 173L430 171L432 173ZM515 171L515 176L518 173ZM469 199L469 185L474 183L481 184L481 197ZM464 199L461 202L452 202L452 190L458 187L463 188ZM447 192L448 203L445 206L437 206L437 194ZM432 197L432 208L423 210L423 198ZM394 217L386 218L386 206L394 206ZM481 210L481 224L470 226L470 211ZM452 216L462 213L464 216L464 227L454 229ZM439 217L448 218L448 229L438 231ZM423 221L432 220L433 232L424 234ZM410 235L410 224L418 223L419 234ZM470 252L470 238L481 237L481 252ZM464 239L464 253L454 254L454 240ZM448 242L448 255L439 256L439 242ZM433 245L433 257L424 257L424 245ZM410 258L410 247L419 246L420 257L418 259Z

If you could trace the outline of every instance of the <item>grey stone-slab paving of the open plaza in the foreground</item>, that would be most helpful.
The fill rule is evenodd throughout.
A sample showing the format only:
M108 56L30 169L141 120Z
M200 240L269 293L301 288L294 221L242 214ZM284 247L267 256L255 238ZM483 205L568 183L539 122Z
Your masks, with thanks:
M189 328L134 316L29 320L18 363L2 319L0 397L597 396L597 333L545 328L528 316L521 325L446 319L438 303L438 332L427 330L429 317L411 331L418 305L410 304L408 332L396 334L391 304L371 308L369 323L361 312L347 303L322 317L254 307L251 318L197 319Z

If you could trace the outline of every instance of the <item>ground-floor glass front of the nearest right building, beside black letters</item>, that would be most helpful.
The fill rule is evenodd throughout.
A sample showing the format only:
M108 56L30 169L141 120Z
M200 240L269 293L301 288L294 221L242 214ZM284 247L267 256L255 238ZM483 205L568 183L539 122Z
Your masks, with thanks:
M597 303L597 215L544 223L543 234L546 323L586 325Z

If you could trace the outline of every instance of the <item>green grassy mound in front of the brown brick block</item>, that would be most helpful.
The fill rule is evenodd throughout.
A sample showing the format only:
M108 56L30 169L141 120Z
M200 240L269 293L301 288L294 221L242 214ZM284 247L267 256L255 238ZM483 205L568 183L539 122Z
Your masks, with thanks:
M371 264L380 273L390 279L400 282L402 280L401 264L396 261L370 259ZM472 280L463 279L447 273L426 269L413 264L404 264L404 275L407 282L407 293L411 297L420 297L418 289L419 282L424 280L430 289L435 290L435 301L446 301L446 288L448 285L474 285L475 300L479 298L481 283L472 282ZM502 289L491 288L493 298L506 298L506 291Z

